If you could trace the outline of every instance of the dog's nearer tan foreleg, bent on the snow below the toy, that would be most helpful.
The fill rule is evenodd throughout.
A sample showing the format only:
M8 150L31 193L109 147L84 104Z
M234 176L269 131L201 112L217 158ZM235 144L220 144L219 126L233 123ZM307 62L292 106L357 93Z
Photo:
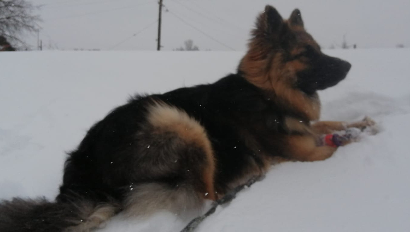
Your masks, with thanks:
M293 161L319 161L332 156L336 147L318 146L314 136L288 136L287 158Z

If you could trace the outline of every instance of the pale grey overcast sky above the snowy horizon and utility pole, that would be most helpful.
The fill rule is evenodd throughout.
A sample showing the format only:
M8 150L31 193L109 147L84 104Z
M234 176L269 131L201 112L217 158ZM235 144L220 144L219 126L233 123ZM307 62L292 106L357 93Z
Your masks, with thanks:
M156 49L157 0L31 2L43 4L45 49ZM284 18L299 8L307 31L324 48L340 45L344 34L359 48L410 46L409 0L164 0L169 12L162 19L163 50L183 46L187 39L200 50L245 50L255 17L266 4ZM29 42L36 46L36 39Z

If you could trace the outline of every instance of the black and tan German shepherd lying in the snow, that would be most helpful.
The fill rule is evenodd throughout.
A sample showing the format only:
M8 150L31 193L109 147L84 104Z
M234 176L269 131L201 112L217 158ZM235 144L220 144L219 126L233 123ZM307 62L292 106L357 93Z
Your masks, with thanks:
M298 9L283 20L268 5L236 74L137 95L112 110L69 153L57 199L3 201L0 231L86 232L121 211L180 214L273 163L329 158L337 147L319 145L321 135L373 123L311 123L320 115L317 91L350 68L321 53Z

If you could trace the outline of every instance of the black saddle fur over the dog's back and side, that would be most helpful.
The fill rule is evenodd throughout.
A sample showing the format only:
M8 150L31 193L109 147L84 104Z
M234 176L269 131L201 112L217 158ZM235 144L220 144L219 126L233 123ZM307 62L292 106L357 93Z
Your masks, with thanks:
M101 200L105 200L106 195L122 200L126 186L131 184L141 181L173 183L172 178L178 179L178 176L171 179L134 176L139 168L135 162L138 160L136 151L149 145L141 144L142 141L134 135L145 124L146 107L153 99L185 110L206 128L218 161L217 169L220 171L215 179L218 181L216 188L221 193L226 191L228 183L242 175L250 158L262 165L261 155L246 145L244 136L247 133L258 137L260 150L266 150L275 147L272 134L286 131L280 123L285 112L278 111L272 104L273 99L268 99L238 74L209 85L185 87L151 96L137 95L95 124L77 150L70 153L62 194L58 197L60 200L72 191L92 198L98 196ZM151 145L151 149L154 147ZM271 155L282 154L278 151Z

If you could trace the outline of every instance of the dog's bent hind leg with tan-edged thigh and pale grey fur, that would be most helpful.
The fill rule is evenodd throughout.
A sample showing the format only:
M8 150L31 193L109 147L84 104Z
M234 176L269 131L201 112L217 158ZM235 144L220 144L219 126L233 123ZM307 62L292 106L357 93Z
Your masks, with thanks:
M128 215L147 216L159 209L175 214L197 211L216 200L215 160L203 126L185 111L155 103L146 127L136 136L135 168L124 202Z

